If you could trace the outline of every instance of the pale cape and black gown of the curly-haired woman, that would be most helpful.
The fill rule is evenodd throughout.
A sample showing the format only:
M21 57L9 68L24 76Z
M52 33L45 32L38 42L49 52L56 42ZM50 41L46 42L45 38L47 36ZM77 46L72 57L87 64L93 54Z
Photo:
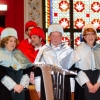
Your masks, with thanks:
M19 50L9 52L5 48L0 48L0 55L0 100L30 100L26 88L21 93L14 93L13 86L20 84L24 74L29 77L33 71L35 76L41 76L41 71L33 70L33 64ZM6 79L8 81L5 85L3 81Z

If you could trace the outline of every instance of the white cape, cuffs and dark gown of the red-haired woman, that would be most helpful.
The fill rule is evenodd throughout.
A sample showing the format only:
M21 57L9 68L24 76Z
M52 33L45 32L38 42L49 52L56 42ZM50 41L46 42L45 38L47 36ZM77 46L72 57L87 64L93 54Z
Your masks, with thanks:
M100 83L100 44L96 44L93 48L82 42L76 52L80 57L80 61L76 62L75 67L78 69L75 84L75 100L100 100L100 88L96 93L90 93L86 86L86 82L93 85Z

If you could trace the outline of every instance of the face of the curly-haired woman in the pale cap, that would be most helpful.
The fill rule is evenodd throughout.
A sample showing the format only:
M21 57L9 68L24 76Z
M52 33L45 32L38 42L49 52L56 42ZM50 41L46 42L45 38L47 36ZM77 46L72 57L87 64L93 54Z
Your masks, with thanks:
M5 48L12 52L16 47L16 38L15 37L10 37L7 43L5 43Z

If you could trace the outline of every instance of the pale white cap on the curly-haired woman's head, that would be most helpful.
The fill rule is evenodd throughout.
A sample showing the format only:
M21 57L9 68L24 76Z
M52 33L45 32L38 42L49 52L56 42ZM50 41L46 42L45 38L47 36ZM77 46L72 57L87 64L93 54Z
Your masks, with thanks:
M2 32L1 32L1 40L5 37L8 36L14 36L15 38L18 39L17 37L17 31L14 28L5 28Z

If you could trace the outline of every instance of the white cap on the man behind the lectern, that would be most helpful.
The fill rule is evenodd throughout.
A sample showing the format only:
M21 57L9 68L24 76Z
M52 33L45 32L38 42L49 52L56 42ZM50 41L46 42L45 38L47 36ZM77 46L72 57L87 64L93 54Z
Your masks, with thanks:
M60 24L52 24L48 27L48 36L51 32L60 32L62 35L64 34L63 27Z

